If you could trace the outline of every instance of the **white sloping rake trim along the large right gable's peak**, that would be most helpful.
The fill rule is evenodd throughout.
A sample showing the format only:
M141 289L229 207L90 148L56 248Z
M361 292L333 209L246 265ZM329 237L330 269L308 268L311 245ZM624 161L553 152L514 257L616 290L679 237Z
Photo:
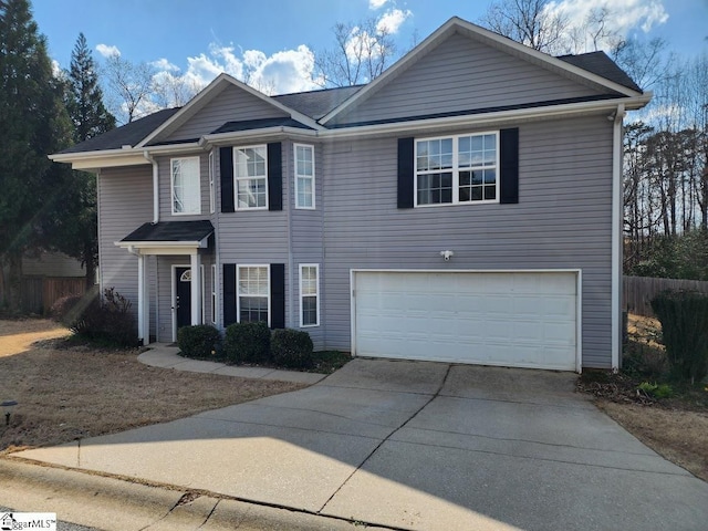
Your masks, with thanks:
M553 58L552 55L539 52L538 50L494 33L493 31L487 30L477 24L472 24L471 22L467 22L466 20L462 20L458 17L452 17L445 24L438 28L433 34L425 39L420 44L418 44L415 49L399 59L382 75L376 77L368 85L346 100L342 105L337 106L336 108L327 113L327 115L323 116L322 119L320 119L320 123L326 125L337 115L361 105L388 83L392 83L403 72L412 67L419 58L429 53L431 50L437 48L440 42L447 40L455 33L460 33L473 38L490 46L504 51L506 53L524 59L530 63L537 64L560 75L564 75L568 79L573 79L581 83L593 85L605 91L611 91L617 93L617 95L642 95L642 90L634 83L632 83L634 85L633 87L624 85L613 79L604 77L602 74L595 73L592 70L585 70L584 67L574 64L573 61L563 61L561 59ZM610 61L610 58L607 58L607 61ZM597 58L581 58L575 62L581 62L585 64L585 66L597 69L603 72L610 72L612 70L606 64L602 64L602 60ZM616 72L612 71L611 75L616 76Z

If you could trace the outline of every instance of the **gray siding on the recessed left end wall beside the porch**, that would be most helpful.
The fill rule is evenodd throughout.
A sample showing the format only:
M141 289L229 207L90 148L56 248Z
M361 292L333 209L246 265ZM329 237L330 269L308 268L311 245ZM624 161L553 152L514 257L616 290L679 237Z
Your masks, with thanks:
M152 166L102 169L98 175L98 256L101 288L115 288L133 303L137 314L137 257L116 247L140 225L153 219ZM148 262L148 282L154 287ZM154 327L154 293L150 295L150 329Z

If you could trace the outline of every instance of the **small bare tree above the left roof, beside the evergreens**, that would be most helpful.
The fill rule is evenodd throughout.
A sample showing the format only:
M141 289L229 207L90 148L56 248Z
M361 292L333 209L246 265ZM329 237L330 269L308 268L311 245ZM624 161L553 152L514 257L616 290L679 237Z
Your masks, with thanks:
M131 123L146 112L143 111L153 94L155 69L147 63L132 63L119 54L106 59L104 65L108 108L122 123Z

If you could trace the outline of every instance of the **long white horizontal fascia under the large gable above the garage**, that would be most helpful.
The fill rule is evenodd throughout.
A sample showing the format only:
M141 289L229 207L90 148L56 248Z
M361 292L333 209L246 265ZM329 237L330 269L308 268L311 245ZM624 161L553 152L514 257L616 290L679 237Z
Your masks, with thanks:
M643 94L638 97L601 100L584 103L568 103L563 105L552 105L548 107L518 108L513 111L500 111L497 113L465 114L459 116L447 116L444 118L421 118L409 122L394 122L391 124L361 125L327 129L320 136L344 138L361 136L365 134L395 134L409 132L412 129L425 132L426 129L439 129L442 127L481 127L501 126L504 124L518 124L531 119L570 117L591 113L607 112L614 113L617 104L624 104L625 108L642 108L652 98L652 93Z

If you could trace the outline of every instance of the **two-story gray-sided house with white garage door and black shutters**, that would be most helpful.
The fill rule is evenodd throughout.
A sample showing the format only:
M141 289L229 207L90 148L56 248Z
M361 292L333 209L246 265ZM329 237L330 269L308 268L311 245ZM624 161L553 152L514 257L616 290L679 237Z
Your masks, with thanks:
M51 158L97 174L101 282L146 343L267 321L353 355L617 367L622 122L649 98L602 52L454 18L367 85L222 74Z

